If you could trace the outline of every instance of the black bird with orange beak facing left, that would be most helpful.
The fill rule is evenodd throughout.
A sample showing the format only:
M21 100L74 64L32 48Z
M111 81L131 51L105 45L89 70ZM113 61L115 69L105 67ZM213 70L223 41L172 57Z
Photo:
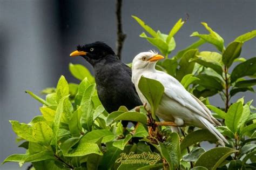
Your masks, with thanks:
M120 106L129 110L142 105L134 84L129 66L122 63L111 47L103 42L78 45L70 56L82 56L95 71L95 81L99 100L109 113ZM122 123L127 126L127 121Z

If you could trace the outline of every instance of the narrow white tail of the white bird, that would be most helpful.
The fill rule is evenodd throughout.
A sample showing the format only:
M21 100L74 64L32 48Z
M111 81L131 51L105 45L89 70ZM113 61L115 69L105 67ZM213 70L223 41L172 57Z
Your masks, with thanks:
M215 137L219 140L220 145L225 146L224 142L228 144L227 139L208 120L206 120L203 117L200 117L199 119L201 123L203 123L204 126L207 128L207 130L209 130L212 134L215 135Z

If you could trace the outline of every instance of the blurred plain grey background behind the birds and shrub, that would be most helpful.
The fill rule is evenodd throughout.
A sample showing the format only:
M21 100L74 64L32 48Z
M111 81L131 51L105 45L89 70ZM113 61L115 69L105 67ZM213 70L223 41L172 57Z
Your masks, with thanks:
M137 53L155 49L139 37L143 29L131 15L142 18L153 29L169 33L179 18L190 18L176 35L176 50L197 40L194 31L207 33L200 22L207 22L224 39L225 45L235 37L256 28L256 1L124 1L123 30L127 34L123 61L130 63ZM0 162L12 153L24 153L15 142L8 120L28 123L39 115L39 104L25 90L39 94L45 87L57 84L60 75L77 82L68 71L68 64L80 63L91 70L84 59L70 58L77 44L101 40L115 48L115 1L32 1L0 0ZM205 44L200 50L213 50ZM256 39L246 42L242 57L255 57ZM245 100L255 94L242 93ZM233 101L237 98L234 98ZM219 97L211 103L223 106ZM255 103L254 103L255 104ZM25 169L28 165L24 165ZM0 169L18 169L18 164L7 163Z

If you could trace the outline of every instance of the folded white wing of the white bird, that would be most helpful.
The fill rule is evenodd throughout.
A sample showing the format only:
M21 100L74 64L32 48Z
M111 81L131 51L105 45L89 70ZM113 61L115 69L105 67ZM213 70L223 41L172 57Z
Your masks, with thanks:
M164 93L167 97L177 101L179 104L187 107L194 113L206 118L211 123L216 124L215 121L212 120L213 117L211 116L211 112L208 110L208 108L204 106L199 99L187 92L177 79L160 71L157 72L157 76L155 78L164 85Z

